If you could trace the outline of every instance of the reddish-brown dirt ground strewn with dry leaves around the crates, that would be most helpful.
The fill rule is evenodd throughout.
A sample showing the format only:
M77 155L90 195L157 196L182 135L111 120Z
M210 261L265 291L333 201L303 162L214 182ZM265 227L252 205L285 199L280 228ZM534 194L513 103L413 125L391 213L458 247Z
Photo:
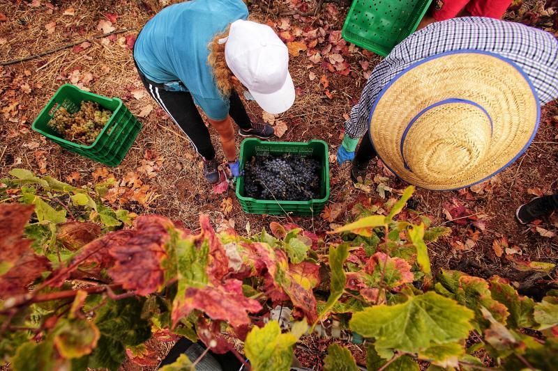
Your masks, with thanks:
M115 20L112 22L115 31L129 30L107 40L96 38L86 47L78 44L82 49L68 47L30 61L0 67L0 175L6 175L11 168L22 167L61 180L67 180L71 175L77 185L93 184L99 177L96 174L100 174L98 169L103 167L102 164L62 150L56 143L31 130L31 123L56 89L61 84L75 82L89 88L92 93L121 97L135 115L145 111L146 106L153 106L149 115L140 118L143 129L126 158L119 166L108 169L117 180L122 180L130 172L142 168L146 161L148 164L151 161L151 165L159 161L160 165L151 177L142 175L141 178L147 186L143 191L147 191L149 197L147 201L142 198L141 202L112 200L113 205L120 203L121 207L137 213L163 214L183 221L186 227L192 229L197 228L200 212L209 214L216 226L234 224L241 232L258 231L269 226L271 221L285 219L244 214L233 189L225 194L213 193L204 181L201 162L180 129L149 95L138 92L142 85L126 42L137 35L142 25L163 7L162 2L0 0L0 10L6 15L6 20L0 22L0 62L101 35L103 31L98 27L102 28L102 20ZM284 2L273 3L274 6L269 6L266 1L255 1L250 6L251 17L260 22L280 22L281 18L287 18L291 26L299 26L305 31L319 26L340 30L347 13L347 8L334 3L324 4L317 10L316 16L312 13L317 6L313 1L308 3L307 12L292 11ZM310 15L301 17L301 13ZM117 19L112 18L113 15L117 15ZM516 15L511 13L508 16L513 18ZM52 22L55 22L54 26ZM310 62L305 52L292 57L290 72L297 97L292 109L277 117L287 125L287 131L280 140L322 139L329 143L330 155L335 154L340 145L344 116L359 100L365 84L362 62L368 62L370 71L380 61L378 56L364 53L362 49L343 56L351 70L347 76L331 73L322 65ZM310 72L316 76L315 79L310 79ZM322 75L329 81L328 90L324 90L323 82L319 82ZM246 102L246 106L253 120L262 120L262 110L255 102ZM220 147L214 135L213 143L216 143L216 148ZM223 158L222 152L218 155ZM450 237L430 246L432 264L437 268L458 268L483 277L499 274L518 283L529 281L531 277L529 282L536 283L541 276L534 279L529 273L518 271L517 262L558 261L558 218L545 219L536 226L520 226L515 221L514 212L518 205L530 200L534 194L558 191L557 168L558 102L553 102L544 107L541 127L529 150L495 179L482 187L462 191L418 190L414 208L430 216L433 225L450 226L453 230ZM329 230L330 223L351 219L351 209L357 201L370 198L372 203L385 203L386 199L382 199L377 191L379 185L380 188L394 190L386 193L387 198L396 197L398 190L406 186L395 177L376 177L386 175L384 168L376 162L370 166L370 184L365 184L369 189L354 187L348 175L349 165L340 167L331 162L329 207L340 210L334 220L316 215L306 219L287 217L289 221L309 230ZM376 182L373 182L375 178ZM225 198L232 199L230 212L224 210ZM448 215L446 210L456 205L464 207L465 214L458 220L450 221L455 217ZM541 232L541 228L547 232ZM507 239L509 249L506 251L504 246L502 256L497 256L493 244L495 240L502 242L502 238ZM529 290L529 287L524 288Z

